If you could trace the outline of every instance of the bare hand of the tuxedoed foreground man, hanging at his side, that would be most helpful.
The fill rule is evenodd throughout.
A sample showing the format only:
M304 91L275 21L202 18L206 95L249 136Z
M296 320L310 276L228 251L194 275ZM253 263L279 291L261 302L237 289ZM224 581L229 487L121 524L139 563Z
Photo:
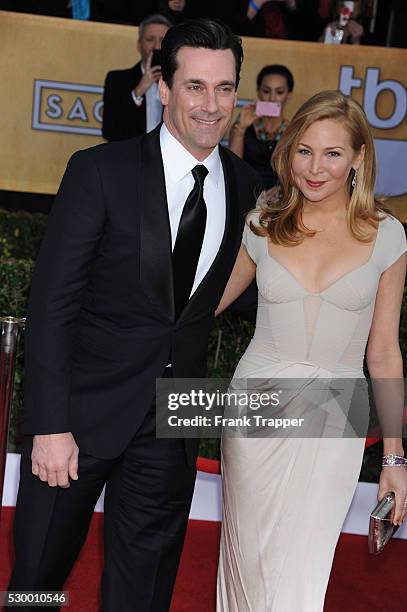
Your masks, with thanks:
M78 480L79 448L71 432L34 436L32 473L50 487L69 487Z

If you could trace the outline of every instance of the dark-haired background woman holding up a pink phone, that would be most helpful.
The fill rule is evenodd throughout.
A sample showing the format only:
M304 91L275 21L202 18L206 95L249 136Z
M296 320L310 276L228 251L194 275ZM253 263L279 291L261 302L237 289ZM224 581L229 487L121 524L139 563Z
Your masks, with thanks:
M287 125L284 107L293 89L294 78L286 66L265 66L257 75L257 98L261 102L278 102L280 114L259 116L253 102L242 109L230 130L229 148L259 172L264 189L276 183L271 156Z

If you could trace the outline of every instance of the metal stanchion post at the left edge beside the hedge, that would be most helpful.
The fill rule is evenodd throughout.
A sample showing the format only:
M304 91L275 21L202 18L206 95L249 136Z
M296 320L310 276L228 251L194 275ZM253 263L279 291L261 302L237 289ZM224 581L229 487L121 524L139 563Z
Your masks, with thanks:
M25 319L0 317L0 517L17 344Z

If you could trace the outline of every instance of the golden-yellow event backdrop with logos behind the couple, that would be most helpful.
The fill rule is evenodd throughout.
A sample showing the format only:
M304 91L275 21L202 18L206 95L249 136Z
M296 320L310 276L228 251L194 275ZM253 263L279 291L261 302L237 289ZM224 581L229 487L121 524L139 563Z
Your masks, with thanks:
M138 61L137 28L0 11L0 189L53 194L70 155L103 142L108 70ZM244 39L239 104L265 64L295 78L287 115L323 89L360 102L379 160L376 192L407 222L407 51Z

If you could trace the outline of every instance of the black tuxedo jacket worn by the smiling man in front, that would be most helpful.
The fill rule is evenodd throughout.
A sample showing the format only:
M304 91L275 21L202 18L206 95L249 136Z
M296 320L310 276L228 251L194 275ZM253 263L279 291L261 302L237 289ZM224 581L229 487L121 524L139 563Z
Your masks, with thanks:
M171 231L159 128L75 153L33 275L26 328L24 433L72 431L79 447L126 447L169 360L204 377L213 312L259 177L221 148L226 226L218 254L174 319Z

